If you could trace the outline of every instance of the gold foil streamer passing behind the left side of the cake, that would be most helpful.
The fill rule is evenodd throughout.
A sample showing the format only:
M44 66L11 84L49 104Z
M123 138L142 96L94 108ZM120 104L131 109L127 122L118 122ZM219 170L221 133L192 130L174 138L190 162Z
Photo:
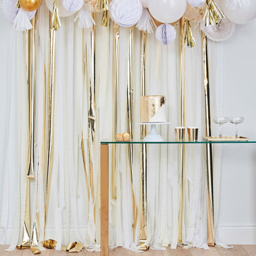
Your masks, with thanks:
M146 32L141 31L140 41L140 72L141 88L140 95L146 95ZM140 126L140 139L146 137L146 126ZM140 250L146 248L146 144L140 145Z

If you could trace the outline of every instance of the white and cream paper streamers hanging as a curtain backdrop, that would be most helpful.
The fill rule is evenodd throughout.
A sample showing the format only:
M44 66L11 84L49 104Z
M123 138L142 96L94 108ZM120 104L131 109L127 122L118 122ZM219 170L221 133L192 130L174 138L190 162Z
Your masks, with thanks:
M49 10L41 4L38 14L38 55L36 80L35 180L31 180L31 228L36 211L40 215L40 237L55 239L57 249L67 242L81 241L89 250L99 250L100 243L100 140L112 137L113 119L113 23L100 26L101 15L95 15L95 151L93 162L93 193L87 194L82 162L82 134L89 177L88 81L83 80L83 47L87 65L92 65L90 30L82 31L74 23L74 15L61 18L62 27L56 33L56 83L54 158L50 200L44 228L42 192L42 133L44 126L44 84L48 72ZM16 32L0 10L1 44L1 158L0 158L0 243L21 241L25 210L26 150L28 143L28 89L25 70L25 37ZM186 126L199 127L204 135L204 98L201 80L201 32L193 27L196 46L185 50ZM255 25L255 24L254 24ZM169 46L156 41L154 33L147 35L146 94L166 95L170 125L158 126L162 137L174 140L174 127L179 122L179 37ZM210 92L212 116L223 113L223 44L209 42ZM134 140L140 139L140 31L134 29ZM127 130L126 104L128 80L129 29L120 28L119 90L117 132ZM6 62L7 60L7 62ZM87 74L92 76L92 73ZM84 82L83 82L84 81ZM212 124L213 134L216 127ZM246 130L245 130L246 131ZM249 131L250 132L250 131ZM246 134L247 135L247 134ZM177 246L178 210L180 206L180 167L178 145L148 145L147 174L147 234L148 244L156 249ZM206 159L204 145L186 146L185 203L183 241L207 248L206 231ZM218 225L221 146L214 146L215 225ZM110 148L111 152L111 148ZM133 184L137 206L140 195L140 146L134 146ZM111 170L111 157L110 157ZM111 181L111 171L110 171ZM37 182L39 188L37 190ZM136 249L139 235L132 235L132 196L129 159L126 145L116 146L116 199L110 199L110 246ZM90 193L92 191L90 190ZM110 185L111 195L111 185ZM38 198L38 200L37 200ZM37 202L38 201L38 202ZM36 205L38 204L38 206ZM95 206L95 225L94 225ZM223 209L220 209L223 211ZM45 230L45 238L44 238ZM95 238L97 244L95 244ZM224 239L225 240L225 239ZM222 241L218 241L222 242ZM225 242L225 241L224 241Z

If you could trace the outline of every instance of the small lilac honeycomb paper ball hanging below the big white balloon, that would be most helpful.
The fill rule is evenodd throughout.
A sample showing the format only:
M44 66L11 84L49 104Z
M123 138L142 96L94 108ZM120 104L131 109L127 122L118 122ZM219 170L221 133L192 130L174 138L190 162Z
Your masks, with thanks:
M168 23L160 25L156 30L156 39L161 42L161 44L171 44L174 42L175 38L176 30Z

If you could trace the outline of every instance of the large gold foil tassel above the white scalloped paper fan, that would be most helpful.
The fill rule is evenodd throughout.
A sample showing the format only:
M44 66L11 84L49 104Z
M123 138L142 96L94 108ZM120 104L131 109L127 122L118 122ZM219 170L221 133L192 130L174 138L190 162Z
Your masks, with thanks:
M206 3L207 8L204 14L204 24L206 26L217 25L225 16L214 0L206 0Z

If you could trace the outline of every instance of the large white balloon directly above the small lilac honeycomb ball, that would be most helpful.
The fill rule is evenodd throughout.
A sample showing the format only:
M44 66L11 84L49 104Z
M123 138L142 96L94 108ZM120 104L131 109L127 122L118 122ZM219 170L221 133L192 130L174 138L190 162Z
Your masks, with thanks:
M148 10L159 22L176 22L185 13L186 0L148 0Z

